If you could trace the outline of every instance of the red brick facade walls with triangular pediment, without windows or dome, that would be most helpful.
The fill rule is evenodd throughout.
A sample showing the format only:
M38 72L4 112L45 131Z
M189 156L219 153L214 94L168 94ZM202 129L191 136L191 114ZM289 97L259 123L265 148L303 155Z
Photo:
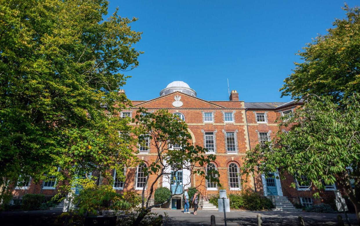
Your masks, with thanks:
M180 96L181 107L174 107L175 96ZM259 142L260 134L266 133L267 136L274 136L278 131L278 124L275 120L282 116L284 112L299 107L301 103L295 103L294 101L289 103L246 103L239 100L238 93L235 90L231 92L229 99L229 101L207 101L175 91L153 100L133 101L133 107L129 108L129 110L124 110L124 112L131 112L132 117L135 116L136 110L140 107L147 108L149 111L167 109L171 113L180 112L185 117L185 122L188 124L194 144L204 146L205 133L213 132L216 154L216 161L213 164L215 164L216 169L220 173L220 183L228 193L237 193L239 190L253 190L264 195L264 187L266 186L266 183L264 183L265 177L257 174L255 177L239 178L239 181L241 181L240 189L236 187L231 188L229 184L229 165L235 163L239 170L243 164L242 158L246 151L256 146ZM212 113L213 121L205 121L204 113ZM233 121L225 121L225 113L232 113ZM257 119L257 114L262 114L259 116L261 118L260 122ZM235 135L235 152L227 151L226 132L233 132ZM139 153L138 157L148 165L148 163L156 159L156 150L150 143L149 152ZM285 180L278 179L276 191L278 195L283 195L283 190L286 190L286 192L293 196L311 197L315 192L315 189L303 191L291 188L290 185L294 182L294 178L291 175L285 174L284 176L286 177ZM149 183L152 183L155 177L156 175L150 176ZM218 192L214 189L208 189L206 180L202 176L192 175L189 179L191 181L190 186L198 187L202 192L210 194ZM48 196L55 194L56 190L43 189L43 184L43 181L40 181L39 184L30 182L27 189L16 189L13 191L13 195L16 199L26 193L45 194ZM156 187L160 186L163 186L162 178L156 184ZM126 180L123 183L123 188L118 189L118 192L135 189L136 167L128 167L126 168ZM137 191L140 192L141 190ZM333 191L324 191L321 194L323 196L332 196L334 193ZM314 202L319 202L319 200L314 200Z

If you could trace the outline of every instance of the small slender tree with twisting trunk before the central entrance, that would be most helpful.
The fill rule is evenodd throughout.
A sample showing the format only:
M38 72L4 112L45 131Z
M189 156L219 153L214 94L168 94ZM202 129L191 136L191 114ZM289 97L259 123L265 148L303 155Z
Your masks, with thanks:
M139 133L149 135L153 143L151 148L154 147L157 154L154 161L144 168L146 181L141 194L141 212L134 222L134 225L139 225L139 222L152 208L168 203L174 195L181 195L183 193L182 189L180 191L177 188L190 184L190 181L188 181L183 185L178 185L175 176L176 172L188 170L190 172L189 178L191 178L192 174L197 173L216 183L219 183L219 173L213 170L208 173L209 175L206 175L204 166L214 161L216 156L213 154L204 156L205 148L191 144L188 126L178 116L172 115L167 110L158 110L152 113L141 108L138 110L133 122L135 120L139 125ZM140 136L139 139L140 143L144 142L144 136ZM141 145L145 144L142 143ZM218 177L215 178L210 175L217 175ZM151 183L149 182L149 176L153 179ZM150 197L155 191L154 186L160 178L169 182L174 180L176 189L171 189L171 195L166 201L150 205ZM149 190L148 194L145 194L145 187Z

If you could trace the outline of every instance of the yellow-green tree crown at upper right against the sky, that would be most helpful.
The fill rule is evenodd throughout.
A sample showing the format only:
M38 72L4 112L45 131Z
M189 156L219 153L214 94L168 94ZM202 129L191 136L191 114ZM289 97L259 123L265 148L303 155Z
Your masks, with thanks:
M307 94L331 95L334 101L360 91L360 8L343 8L346 19L336 19L328 34L319 35L303 48L303 63L280 89L282 96L300 99Z

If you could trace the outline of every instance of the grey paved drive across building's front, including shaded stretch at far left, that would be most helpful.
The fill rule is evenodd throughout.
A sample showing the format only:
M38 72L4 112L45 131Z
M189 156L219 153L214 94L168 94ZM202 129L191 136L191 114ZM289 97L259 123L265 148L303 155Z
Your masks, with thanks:
M185 214L180 210L153 210L158 214L165 216L164 212L168 214L168 226L208 226L210 225L210 216L215 215L216 225L224 226L224 213L216 211L199 210L198 215ZM192 212L192 211L191 211ZM263 226L278 226L278 225L298 225L297 217L302 216L305 221L305 226L308 225L337 225L337 214L333 213L311 213L311 212L276 212L276 211L232 211L226 213L227 225L229 226L256 226L256 214L260 213L262 216ZM62 224L54 223L56 217L61 214L61 211L42 210L42 211L11 211L0 212L1 226L26 226L26 225L48 225L61 226ZM355 226L355 214L348 214L351 225ZM342 215L344 218L344 216ZM345 223L347 226L347 223ZM164 219L165 226L165 219Z

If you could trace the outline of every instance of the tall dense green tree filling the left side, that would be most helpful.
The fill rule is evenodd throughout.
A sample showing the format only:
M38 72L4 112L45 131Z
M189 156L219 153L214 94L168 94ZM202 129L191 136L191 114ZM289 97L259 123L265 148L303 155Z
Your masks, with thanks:
M118 136L127 120L116 118L128 103L121 72L139 64L136 18L116 10L104 21L106 0L0 3L0 195L19 175L131 159Z

